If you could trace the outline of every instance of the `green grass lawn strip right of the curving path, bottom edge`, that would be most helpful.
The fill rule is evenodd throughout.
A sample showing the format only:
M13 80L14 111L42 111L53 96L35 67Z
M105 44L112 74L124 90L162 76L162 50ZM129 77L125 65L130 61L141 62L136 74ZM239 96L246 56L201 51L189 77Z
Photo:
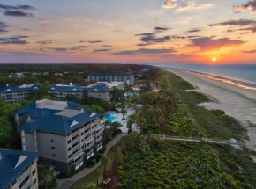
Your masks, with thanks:
M106 166L106 170L109 170L112 166L112 161L114 159L114 154L113 152L110 150L108 153L109 156L109 163ZM104 171L104 165L101 164L97 169L100 169L101 172L103 173ZM99 184L103 181L103 177L102 175L99 177ZM90 183L94 183L97 184L97 179L94 176L93 172L91 172L90 174L88 174L86 177L79 179L77 182L75 182L72 186L71 189L81 189L81 188L87 188L87 185L89 185Z

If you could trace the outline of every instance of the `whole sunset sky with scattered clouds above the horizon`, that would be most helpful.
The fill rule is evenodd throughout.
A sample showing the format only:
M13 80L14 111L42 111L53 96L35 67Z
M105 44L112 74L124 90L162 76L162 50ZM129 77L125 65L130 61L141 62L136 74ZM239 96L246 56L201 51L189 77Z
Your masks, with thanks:
M0 0L0 63L256 64L256 0Z

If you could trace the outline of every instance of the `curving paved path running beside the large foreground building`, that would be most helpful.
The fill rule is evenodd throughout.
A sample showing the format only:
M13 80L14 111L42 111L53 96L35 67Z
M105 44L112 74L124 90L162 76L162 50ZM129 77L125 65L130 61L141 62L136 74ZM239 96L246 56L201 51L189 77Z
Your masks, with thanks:
M125 136L127 133L123 133L123 134L119 134L117 135L115 138L113 138L107 145L106 145L106 150L103 154L103 156L106 156L107 153L109 152L109 149L112 148L112 146L114 146L118 141L120 141L120 139ZM57 185L58 188L61 189L68 189L72 186L73 183L75 183L76 181L78 181L80 178L83 178L85 176L87 176L87 174L91 173L92 171L94 171L98 166L100 166L101 161L98 162L97 164L94 165L94 167L91 168L85 168L82 171L79 171L77 174L73 175L71 178L65 178L65 179L57 179Z

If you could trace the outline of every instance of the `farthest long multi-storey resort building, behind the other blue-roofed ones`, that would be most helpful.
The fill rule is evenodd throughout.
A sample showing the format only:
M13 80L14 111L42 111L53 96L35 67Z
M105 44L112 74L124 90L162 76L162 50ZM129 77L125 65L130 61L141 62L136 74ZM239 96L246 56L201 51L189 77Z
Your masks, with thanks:
M88 75L87 78L88 81L95 81L95 82L124 82L127 85L133 85L134 84L134 75L132 73L124 73L124 72L118 72L118 73L91 73Z

